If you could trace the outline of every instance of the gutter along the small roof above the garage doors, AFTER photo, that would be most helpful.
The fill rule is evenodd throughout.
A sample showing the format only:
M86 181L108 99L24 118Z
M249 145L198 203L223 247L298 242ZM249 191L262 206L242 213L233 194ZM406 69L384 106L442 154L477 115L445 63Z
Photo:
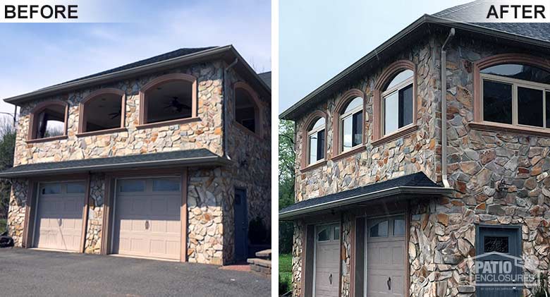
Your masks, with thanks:
M334 207L352 205L357 202L365 202L393 195L452 195L453 192L453 188L398 186L389 189L378 190L372 193L355 195L341 200L324 202L318 205L303 207L298 210L279 212L279 220L292 220L293 217L296 217L300 214L318 212L321 210L330 210Z

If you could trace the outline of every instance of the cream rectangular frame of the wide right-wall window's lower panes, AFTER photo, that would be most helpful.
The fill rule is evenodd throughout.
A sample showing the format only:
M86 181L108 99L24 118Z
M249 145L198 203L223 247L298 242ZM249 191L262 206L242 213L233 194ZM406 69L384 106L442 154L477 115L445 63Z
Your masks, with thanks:
M550 92L550 85L545 83L536 83L532 82L530 80L518 80L516 78L507 78L506 76L501 75L494 75L494 74L487 74L487 73L479 73L480 74L480 85L481 85L481 115L482 115L482 121L487 123L497 123L502 125L513 125L513 126L519 126L519 127L527 127L527 128L537 128L537 129L548 129L550 128L550 123L546 123L546 92ZM484 119L484 90L483 90L483 83L485 80L492 81L495 83L506 83L508 85L512 85L512 123L499 123L499 122L492 122L492 121L485 121ZM542 91L542 127L539 126L529 126L529 125L523 125L518 123L518 87L527 87L534 90L541 90Z

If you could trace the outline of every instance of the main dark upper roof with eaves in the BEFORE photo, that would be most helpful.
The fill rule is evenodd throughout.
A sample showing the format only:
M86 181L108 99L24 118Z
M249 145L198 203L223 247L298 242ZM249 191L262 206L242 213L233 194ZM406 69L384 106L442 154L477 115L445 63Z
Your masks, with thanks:
M4 99L4 102L20 105L33 99L59 95L63 92L70 92L84 87L101 85L115 80L132 78L136 75L164 71L177 66L212 61L214 59L224 60L228 64L233 63L233 61L237 61L235 66L233 66L233 69L235 69L235 71L247 80L250 85L254 86L259 95L263 97L271 97L271 88L269 85L267 85L262 78L259 78L259 75L252 69L252 67L250 67L250 65L248 65L245 59L240 56L233 45L226 45L224 47L176 49L175 51L153 56L149 59L129 63L124 66L87 75L75 80L69 80L65 83L44 87L27 94L6 98Z

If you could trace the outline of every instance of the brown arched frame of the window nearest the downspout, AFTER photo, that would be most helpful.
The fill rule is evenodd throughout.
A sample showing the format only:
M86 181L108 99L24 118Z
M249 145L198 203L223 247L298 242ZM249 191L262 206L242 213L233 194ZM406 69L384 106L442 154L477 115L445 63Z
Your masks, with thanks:
M387 90L384 87L388 85L393 78L396 77L401 71L412 71L412 123L399 128L393 133L384 135L384 97ZM401 85L401 84L399 84ZM403 85L407 86L407 85ZM393 89L393 87L392 87ZM412 61L398 60L387 66L384 71L379 75L377 83L374 85L374 113L372 115L374 121L374 131L372 133L372 145L374 147L396 140L410 133L417 131L417 119L418 119L418 107L417 107L417 66ZM383 96L384 94L384 96Z

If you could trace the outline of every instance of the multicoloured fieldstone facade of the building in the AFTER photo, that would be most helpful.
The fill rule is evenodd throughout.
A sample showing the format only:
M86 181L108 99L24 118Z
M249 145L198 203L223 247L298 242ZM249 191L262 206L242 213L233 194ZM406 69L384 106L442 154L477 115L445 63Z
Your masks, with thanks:
M296 121L295 201L338 193L369 183L422 171L441 183L441 44L446 35L419 40L372 73L350 82ZM447 51L448 180L454 193L446 198L417 199L410 207L408 246L410 296L475 296L470 282L475 257L475 224L520 225L526 273L548 272L550 264L550 137L475 128L472 64L495 54L523 53L458 35ZM527 53L533 54L533 53ZM372 145L373 88L393 61L415 63L417 130L396 140ZM334 107L347 90L365 93L365 150L338 159L331 146ZM310 114L327 114L327 158L323 166L302 169L302 131ZM338 214L338 212L337 212ZM348 232L354 214L341 214L341 296L353 296ZM305 225L295 222L293 295L302 293L302 241ZM353 259L351 260L353 262ZM306 272L307 273L307 272ZM311 273L311 272L310 272ZM524 288L524 296L532 292Z

